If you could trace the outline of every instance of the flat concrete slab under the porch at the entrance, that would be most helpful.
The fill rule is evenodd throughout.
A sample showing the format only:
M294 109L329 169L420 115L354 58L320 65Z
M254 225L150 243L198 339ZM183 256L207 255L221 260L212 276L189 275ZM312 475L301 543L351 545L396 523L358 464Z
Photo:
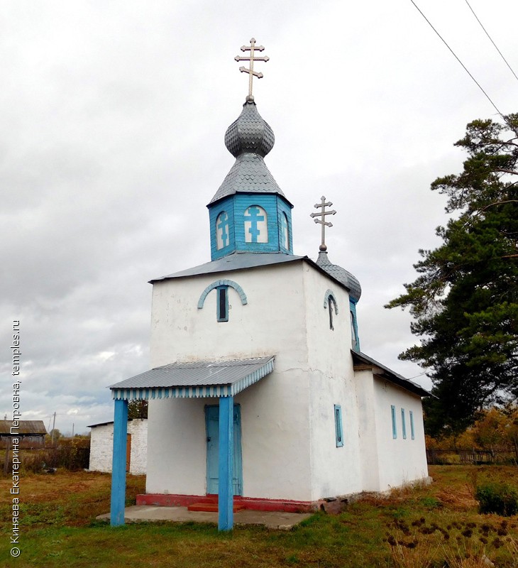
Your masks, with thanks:
M276 513L272 511L245 509L234 513L234 525L263 525L266 528L290 530L311 513ZM110 513L99 515L98 520L110 520ZM126 523L145 523L156 521L173 523L214 523L218 524L218 513L201 510L187 510L187 507L157 507L152 505L133 505L124 509Z

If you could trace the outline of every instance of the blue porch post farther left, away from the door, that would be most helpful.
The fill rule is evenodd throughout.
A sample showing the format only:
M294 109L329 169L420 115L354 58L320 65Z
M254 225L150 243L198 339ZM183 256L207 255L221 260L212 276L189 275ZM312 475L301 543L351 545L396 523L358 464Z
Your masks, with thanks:
M126 438L128 436L128 401L115 400L114 408L114 456L111 462L110 524L124 524L126 502Z

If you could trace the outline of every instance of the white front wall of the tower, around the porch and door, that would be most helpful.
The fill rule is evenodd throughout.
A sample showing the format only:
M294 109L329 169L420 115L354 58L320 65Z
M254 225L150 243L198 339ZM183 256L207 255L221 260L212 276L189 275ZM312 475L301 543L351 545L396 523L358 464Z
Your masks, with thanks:
M207 285L224 278L243 288L248 303L241 305L229 288L229 320L217 322L215 291L202 310L197 303ZM151 337L153 366L275 355L275 371L235 398L241 405L243 495L309 501L303 263L156 283ZM206 492L204 405L217 402L150 401L148 493ZM179 431L182 436L175 436Z

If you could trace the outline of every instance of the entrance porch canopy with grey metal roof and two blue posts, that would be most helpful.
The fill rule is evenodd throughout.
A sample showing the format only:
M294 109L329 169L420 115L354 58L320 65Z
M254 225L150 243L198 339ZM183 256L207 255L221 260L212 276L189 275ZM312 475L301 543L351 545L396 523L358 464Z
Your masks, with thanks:
M233 397L273 371L274 356L193 361L152 368L110 386L114 403L111 525L124 524L128 400L219 398L219 530L233 528Z

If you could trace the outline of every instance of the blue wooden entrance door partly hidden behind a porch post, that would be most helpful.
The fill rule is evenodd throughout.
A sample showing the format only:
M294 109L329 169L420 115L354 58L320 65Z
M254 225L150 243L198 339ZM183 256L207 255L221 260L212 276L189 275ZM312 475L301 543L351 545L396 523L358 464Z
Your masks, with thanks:
M219 452L219 406L205 407L206 421L206 485L207 493L218 493L218 452ZM243 495L243 462L241 460L241 412L234 405L234 447L233 447L234 495Z

